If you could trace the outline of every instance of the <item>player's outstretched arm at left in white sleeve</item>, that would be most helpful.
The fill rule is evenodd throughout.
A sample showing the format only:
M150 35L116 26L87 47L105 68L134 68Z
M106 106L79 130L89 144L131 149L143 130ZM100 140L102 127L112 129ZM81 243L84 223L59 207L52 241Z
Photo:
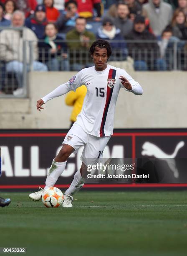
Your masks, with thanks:
M38 100L36 105L37 110L41 111L41 109L43 109L41 106L53 98L64 95L71 90L76 91L76 88L78 88L82 84L83 82L82 82L82 70L81 70L80 72L78 72L78 74L76 74L76 76L71 77L69 82L59 85L55 90L53 90L48 95L45 95L43 98Z

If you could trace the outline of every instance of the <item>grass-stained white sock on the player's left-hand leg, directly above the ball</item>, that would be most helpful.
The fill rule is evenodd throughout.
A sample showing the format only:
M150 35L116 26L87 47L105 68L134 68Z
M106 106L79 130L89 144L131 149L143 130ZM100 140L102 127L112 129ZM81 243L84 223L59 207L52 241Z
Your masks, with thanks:
M45 181L45 188L48 189L49 187L53 187L54 184L56 183L57 179L61 174L63 173L65 167L66 167L66 162L58 163L53 159L53 162L51 164L51 167L49 169L48 176Z

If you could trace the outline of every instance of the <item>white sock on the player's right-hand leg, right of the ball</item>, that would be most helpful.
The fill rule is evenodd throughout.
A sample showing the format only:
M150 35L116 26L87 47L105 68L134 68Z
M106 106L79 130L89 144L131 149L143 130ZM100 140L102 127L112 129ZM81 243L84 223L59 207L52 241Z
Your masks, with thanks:
M78 170L74 175L74 179L71 182L70 187L66 190L64 194L73 195L75 192L78 192L81 189L81 187L83 187L84 182L85 182L85 179L83 179L83 177L81 176L80 170Z

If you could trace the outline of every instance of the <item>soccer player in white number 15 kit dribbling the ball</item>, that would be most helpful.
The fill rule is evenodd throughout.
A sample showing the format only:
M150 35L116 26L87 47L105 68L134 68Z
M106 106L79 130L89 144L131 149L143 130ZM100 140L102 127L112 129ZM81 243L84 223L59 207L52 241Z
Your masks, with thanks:
M88 164L96 164L102 157L104 148L113 134L114 111L119 90L123 88L135 95L143 93L140 84L134 81L125 70L107 64L112 54L109 42L105 40L93 42L90 54L94 63L93 67L82 69L68 82L61 84L38 100L36 105L37 110L41 111L42 105L48 100L71 90L75 91L83 84L87 87L81 113L68 131L58 155L53 159L45 182L44 189L53 187L63 173L71 153L76 154L78 148L84 146L81 169L76 172L73 182L64 193L63 207L72 207L73 194L80 190L85 182L83 171L87 169ZM30 194L29 197L33 200L40 200L42 193L43 189Z

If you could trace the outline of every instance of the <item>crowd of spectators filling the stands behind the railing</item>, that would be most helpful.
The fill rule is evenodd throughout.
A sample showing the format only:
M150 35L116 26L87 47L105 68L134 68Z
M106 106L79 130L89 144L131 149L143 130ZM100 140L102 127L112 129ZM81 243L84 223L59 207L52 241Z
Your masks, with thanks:
M96 38L111 42L111 60L131 56L135 70L167 70L174 42L186 49L187 0L0 0L0 31L0 75L2 67L15 72L19 87L24 40L35 42L34 70L89 67Z

